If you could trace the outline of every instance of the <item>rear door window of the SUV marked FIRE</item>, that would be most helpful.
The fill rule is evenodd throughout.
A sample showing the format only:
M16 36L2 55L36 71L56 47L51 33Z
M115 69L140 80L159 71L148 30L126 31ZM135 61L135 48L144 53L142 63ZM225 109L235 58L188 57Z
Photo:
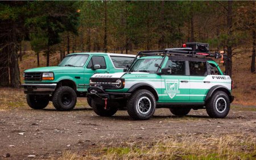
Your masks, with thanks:
M189 61L190 75L207 76L206 62Z

